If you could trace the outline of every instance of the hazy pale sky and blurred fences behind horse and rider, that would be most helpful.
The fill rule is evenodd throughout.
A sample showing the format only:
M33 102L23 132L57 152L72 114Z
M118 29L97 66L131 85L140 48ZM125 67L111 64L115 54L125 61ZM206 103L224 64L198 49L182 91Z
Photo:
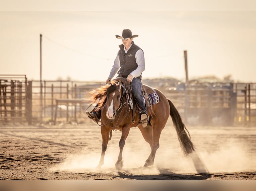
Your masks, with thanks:
M1 4L3 123L81 122L86 95L104 85L122 43L115 35L130 29L144 51L143 83L188 124L255 125L254 1Z

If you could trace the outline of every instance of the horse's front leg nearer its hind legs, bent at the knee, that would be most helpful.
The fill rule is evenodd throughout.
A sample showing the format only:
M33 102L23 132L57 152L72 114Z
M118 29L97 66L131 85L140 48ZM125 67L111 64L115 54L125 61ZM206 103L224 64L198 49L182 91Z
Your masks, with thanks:
M122 135L121 135L121 138L120 138L120 141L119 141L119 155L118 155L118 160L116 161L116 169L117 170L121 170L122 167L123 167L123 148L124 148L124 145L125 145L125 140L128 136L130 132L130 126L129 125L126 125L122 128Z

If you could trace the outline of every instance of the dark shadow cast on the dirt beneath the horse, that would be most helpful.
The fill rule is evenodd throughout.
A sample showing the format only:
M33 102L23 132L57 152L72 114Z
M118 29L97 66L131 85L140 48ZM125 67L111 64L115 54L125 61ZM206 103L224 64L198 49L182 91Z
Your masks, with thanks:
M128 170L118 171L119 176L113 178L124 178L131 180L206 180L212 177L209 173L200 174L178 174L172 172L170 169L157 168L158 174L133 174Z

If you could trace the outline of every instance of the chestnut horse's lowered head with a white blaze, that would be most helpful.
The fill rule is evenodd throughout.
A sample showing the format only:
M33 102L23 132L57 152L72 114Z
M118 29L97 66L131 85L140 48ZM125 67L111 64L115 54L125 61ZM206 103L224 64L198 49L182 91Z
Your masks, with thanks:
M113 90L107 94L106 97L106 104L107 104L107 117L109 119L114 119L116 116L117 109L120 106L121 102L121 95L122 95L122 90L121 90L121 80L116 84L112 83L111 86Z

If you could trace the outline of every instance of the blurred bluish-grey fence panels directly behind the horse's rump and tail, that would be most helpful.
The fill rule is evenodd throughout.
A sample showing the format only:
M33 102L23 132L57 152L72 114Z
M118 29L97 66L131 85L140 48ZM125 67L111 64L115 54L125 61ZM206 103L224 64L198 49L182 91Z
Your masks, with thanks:
M187 124L233 125L236 93L231 85L184 85L181 89L165 90Z

